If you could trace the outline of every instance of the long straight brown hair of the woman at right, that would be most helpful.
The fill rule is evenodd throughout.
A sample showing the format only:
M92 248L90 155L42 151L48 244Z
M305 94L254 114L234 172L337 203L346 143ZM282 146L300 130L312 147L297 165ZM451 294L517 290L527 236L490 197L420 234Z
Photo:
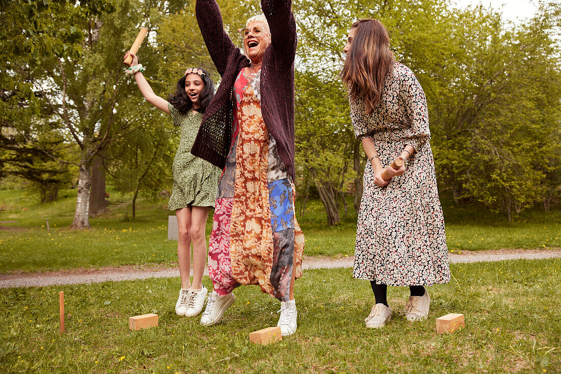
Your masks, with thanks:
M388 31L378 20L358 20L351 26L355 36L341 71L349 97L364 97L366 113L371 114L380 101L385 76L396 61L389 50Z

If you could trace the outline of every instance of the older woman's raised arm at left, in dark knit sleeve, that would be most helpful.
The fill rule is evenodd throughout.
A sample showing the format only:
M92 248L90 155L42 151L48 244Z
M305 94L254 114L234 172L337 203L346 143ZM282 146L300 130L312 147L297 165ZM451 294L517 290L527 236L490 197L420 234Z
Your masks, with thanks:
M236 46L224 31L220 7L215 0L197 0L195 15L201 35L205 40L206 49L209 51L216 70L222 76L226 72L228 56Z

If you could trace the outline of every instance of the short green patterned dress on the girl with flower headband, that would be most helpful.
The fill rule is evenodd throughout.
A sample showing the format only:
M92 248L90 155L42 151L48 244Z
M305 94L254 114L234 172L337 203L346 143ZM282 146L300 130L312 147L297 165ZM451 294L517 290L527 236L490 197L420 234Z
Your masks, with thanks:
M172 115L173 126L181 127L181 141L173 159L173 191L169 197L168 209L176 210L187 206L214 207L222 170L191 154L203 114L191 111L181 114L170 103L168 109Z

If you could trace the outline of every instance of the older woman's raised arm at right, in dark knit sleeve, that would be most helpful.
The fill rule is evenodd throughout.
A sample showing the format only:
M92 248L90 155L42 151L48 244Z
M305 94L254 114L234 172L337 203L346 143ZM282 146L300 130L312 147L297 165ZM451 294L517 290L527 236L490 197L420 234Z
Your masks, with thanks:
M261 9L271 30L271 44L279 68L292 68L296 56L296 21L292 0L261 0Z

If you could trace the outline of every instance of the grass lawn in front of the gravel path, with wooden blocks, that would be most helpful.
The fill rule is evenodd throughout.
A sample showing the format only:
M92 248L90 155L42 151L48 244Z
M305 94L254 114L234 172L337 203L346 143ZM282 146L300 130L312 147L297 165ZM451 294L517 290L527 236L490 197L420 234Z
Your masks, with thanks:
M561 371L561 260L452 266L429 288L424 322L404 318L406 288L389 288L392 321L367 329L372 295L350 269L310 270L297 281L296 334L269 346L251 331L274 326L279 302L257 287L234 291L223 321L173 311L179 279L147 279L0 293L0 372L75 373L544 373ZM206 287L210 280L204 279ZM58 292L66 334L58 333ZM159 326L128 330L128 317L159 314ZM438 335L435 318L463 313L466 327Z

